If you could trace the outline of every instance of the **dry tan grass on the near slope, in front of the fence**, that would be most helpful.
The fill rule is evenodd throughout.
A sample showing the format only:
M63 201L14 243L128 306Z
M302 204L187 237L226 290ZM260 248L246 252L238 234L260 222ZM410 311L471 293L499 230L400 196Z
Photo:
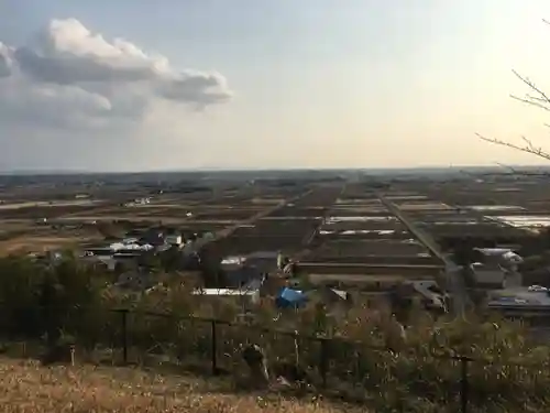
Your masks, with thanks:
M0 412L287 412L350 411L321 401L224 393L219 381L132 368L41 367L0 358ZM364 411L364 410L363 410Z

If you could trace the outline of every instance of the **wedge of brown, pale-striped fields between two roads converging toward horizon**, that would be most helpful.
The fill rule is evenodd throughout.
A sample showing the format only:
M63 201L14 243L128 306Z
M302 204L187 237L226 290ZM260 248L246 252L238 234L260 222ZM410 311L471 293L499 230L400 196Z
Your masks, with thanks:
M327 210L300 261L310 280L384 290L399 280L437 276L439 260L372 193L361 195L361 187L352 194L346 188Z

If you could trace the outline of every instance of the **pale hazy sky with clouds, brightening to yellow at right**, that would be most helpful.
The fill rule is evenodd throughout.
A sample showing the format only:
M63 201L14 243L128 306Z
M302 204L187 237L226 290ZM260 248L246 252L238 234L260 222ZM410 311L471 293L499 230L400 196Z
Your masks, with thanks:
M0 0L0 171L543 164L544 0ZM548 162L548 161L547 161Z

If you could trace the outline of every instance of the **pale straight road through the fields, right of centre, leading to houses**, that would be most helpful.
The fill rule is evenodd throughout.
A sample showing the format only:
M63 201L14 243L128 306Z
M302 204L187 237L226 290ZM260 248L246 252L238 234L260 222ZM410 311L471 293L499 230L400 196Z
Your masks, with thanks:
M436 258L438 258L444 265L443 279L439 283L444 285L448 293L451 295L451 309L455 315L463 314L466 309L468 294L466 287L464 285L464 280L460 273L460 267L458 267L448 256L446 256L433 238L420 229L415 222L409 219L403 211L387 199L384 195L377 194L381 203L397 218L403 225L415 236L415 238L422 243L428 251Z

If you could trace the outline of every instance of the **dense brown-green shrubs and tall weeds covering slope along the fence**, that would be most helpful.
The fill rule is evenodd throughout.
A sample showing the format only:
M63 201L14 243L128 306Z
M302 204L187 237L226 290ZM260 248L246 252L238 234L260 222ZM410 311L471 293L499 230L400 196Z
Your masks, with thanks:
M461 389L457 355L475 360L468 376L472 405L480 411L550 407L550 347L531 343L520 323L475 314L436 318L413 306L403 336L388 305L363 303L327 312L322 304L310 303L279 314L270 298L263 298L253 308L251 326L235 323L242 311L239 303L218 300L212 305L191 295L193 285L177 275L167 279L177 287L141 296L113 294L107 280L100 270L72 258L55 264L0 259L0 332L8 339L41 339L46 333L72 337L87 349L117 346L122 324L113 309L124 306L132 309L127 332L132 347L210 360L211 323L189 319L210 317L227 322L216 326L220 363L224 355L238 360L245 343L264 346L271 362L294 362L297 347L304 368L319 373L324 358L329 385L374 399L377 411L455 409ZM319 337L328 340L324 347Z

